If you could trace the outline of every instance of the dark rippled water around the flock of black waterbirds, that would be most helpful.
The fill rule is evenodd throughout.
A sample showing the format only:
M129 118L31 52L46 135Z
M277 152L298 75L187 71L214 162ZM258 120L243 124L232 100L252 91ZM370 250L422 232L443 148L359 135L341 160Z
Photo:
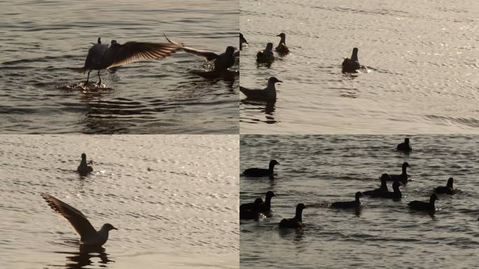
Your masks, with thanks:
M242 268L475 268L479 247L479 137L412 136L410 154L396 152L400 136L246 136L240 171L280 163L274 179L240 177L240 201L272 199L273 215L240 221ZM410 164L401 201L363 198L363 209L339 211L329 202L354 200L380 185L386 172ZM460 191L440 195L438 212L411 212L432 188L454 177ZM391 184L389 184L391 189ZM299 202L305 228L280 230Z

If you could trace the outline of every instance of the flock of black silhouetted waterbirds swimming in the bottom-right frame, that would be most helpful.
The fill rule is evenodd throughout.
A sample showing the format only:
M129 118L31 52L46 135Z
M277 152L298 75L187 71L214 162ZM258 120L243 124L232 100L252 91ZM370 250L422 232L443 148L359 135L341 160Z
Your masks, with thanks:
M401 144L396 146L398 151L403 151L408 153L412 151L410 146L410 141L408 138ZM275 165L279 165L277 160L271 160L270 166L268 169L262 168L249 168L244 170L243 174L247 177L274 177L275 175ZM363 196L370 196L371 198L387 198L392 200L401 200L403 197L401 186L408 184L408 174L406 172L407 167L410 167L408 163L403 163L401 174L382 174L380 177L381 185L379 188L375 188L370 191L358 191L354 194L354 200L347 202L332 202L328 204L329 207L336 209L356 209L359 210L363 206L360 198ZM393 191L389 191L387 188L387 181L392 181ZM454 195L457 192L457 189L454 188L454 179L450 177L447 180L446 186L438 186L433 188L433 193L431 194L429 201L418 201L414 200L408 203L408 206L412 210L420 210L429 212L429 214L434 214L436 212L435 202L438 200L437 194L445 195ZM240 219L260 219L261 217L270 217L272 216L271 210L271 198L276 197L275 193L268 191L266 193L266 198L263 201L261 198L256 198L254 202L240 205ZM296 206L296 214L291 219L282 219L279 222L279 227L282 228L302 228L303 227L303 209L306 206L303 203L300 203Z

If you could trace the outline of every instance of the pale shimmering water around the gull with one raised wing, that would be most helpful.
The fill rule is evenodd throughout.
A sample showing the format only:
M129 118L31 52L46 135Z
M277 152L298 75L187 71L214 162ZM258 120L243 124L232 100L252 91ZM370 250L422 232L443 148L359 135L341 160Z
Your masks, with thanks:
M0 138L0 268L238 268L237 135ZM80 254L40 193L118 230Z

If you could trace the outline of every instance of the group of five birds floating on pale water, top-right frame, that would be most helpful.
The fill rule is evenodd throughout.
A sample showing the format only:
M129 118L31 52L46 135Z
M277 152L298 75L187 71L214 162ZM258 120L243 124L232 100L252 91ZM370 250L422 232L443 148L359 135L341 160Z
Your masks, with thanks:
M286 56L290 53L288 46L286 46L286 34L278 34L280 40L278 46L276 46L275 51L280 56ZM244 39L243 34L240 33L240 50L243 48L243 44L248 44L248 41ZM275 61L275 53L273 52L273 43L269 42L266 44L264 50L258 50L256 53L256 62L259 64L271 64ZM358 69L361 69L363 66L359 64L358 60L358 48L353 48L352 55L350 58L345 58L342 61L342 72L343 73L354 73ZM264 102L275 102L276 97L276 88L275 83L282 82L278 78L270 77L268 79L268 85L264 89L249 89L244 88L240 85L240 91L247 96L248 99L255 101L264 101Z

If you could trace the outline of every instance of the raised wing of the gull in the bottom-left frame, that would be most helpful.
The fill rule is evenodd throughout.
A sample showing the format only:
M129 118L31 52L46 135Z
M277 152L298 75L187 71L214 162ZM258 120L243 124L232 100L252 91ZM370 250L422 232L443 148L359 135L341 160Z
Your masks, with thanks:
M92 224L80 210L68 205L66 202L62 202L52 195L42 193L41 197L46 200L48 205L55 210L58 214L62 215L69 221L71 226L76 230L76 233L80 235L80 239L88 237L94 237L97 235L97 231L93 228Z

